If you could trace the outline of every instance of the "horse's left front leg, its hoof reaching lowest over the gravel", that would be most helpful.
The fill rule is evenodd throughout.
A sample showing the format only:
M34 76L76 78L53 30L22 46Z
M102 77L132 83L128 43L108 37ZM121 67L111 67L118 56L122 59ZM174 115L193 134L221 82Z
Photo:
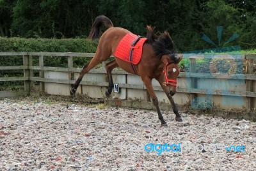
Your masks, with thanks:
M156 107L157 114L158 114L158 119L161 121L161 126L167 126L167 123L164 121L164 117L161 114L159 104L158 104L158 99L157 96L154 92L153 86L152 86L152 79L151 78L142 78L145 86L147 87L148 93L150 95L150 98L153 101L154 106Z

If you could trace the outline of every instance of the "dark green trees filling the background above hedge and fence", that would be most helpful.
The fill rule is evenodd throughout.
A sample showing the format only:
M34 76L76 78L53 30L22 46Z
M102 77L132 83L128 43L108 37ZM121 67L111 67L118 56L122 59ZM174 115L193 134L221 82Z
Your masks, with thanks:
M0 35L21 38L86 38L98 15L114 26L146 35L146 25L169 31L180 53L225 46L242 49L256 45L255 0L1 0ZM223 26L219 45L216 26ZM216 43L202 40L206 34Z

